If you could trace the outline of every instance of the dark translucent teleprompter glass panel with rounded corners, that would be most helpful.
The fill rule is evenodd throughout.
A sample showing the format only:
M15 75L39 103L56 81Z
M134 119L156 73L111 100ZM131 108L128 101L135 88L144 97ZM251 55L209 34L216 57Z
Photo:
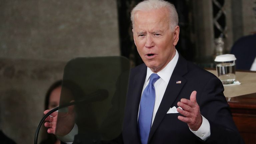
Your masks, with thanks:
M65 133L72 125L67 115L75 118L82 143L107 142L119 139L130 63L121 56L75 58L64 69L60 107L75 101L69 108L60 108L56 133ZM72 118L71 118L72 119Z

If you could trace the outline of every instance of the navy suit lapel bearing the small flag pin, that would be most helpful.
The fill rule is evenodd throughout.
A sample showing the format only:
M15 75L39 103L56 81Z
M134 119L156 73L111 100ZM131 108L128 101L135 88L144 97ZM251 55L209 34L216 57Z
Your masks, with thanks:
M181 55L179 54L178 62L174 68L174 71L172 73L172 76L165 90L161 104L157 110L153 125L150 129L148 142L152 138L157 127L160 125L167 111L170 109L170 106L173 105L173 102L178 97L182 87L185 85L186 79L183 78L182 76L186 73L187 73L187 61L183 57L181 57ZM181 81L181 83L177 84L176 83L177 81Z

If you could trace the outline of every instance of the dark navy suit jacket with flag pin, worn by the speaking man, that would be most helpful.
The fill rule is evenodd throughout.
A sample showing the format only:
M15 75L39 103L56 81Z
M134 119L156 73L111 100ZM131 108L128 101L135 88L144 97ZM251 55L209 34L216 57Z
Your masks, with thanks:
M141 64L133 68L130 73L123 124L125 144L140 143L137 118L146 71L146 65ZM176 81L181 81L181 83L176 84ZM201 114L210 123L211 136L206 141L194 135L186 123L178 120L179 113L166 114L170 107L177 107L177 102L181 98L190 99L190 94L194 90L197 91L196 99ZM215 75L186 61L179 55L151 127L148 143L243 143L223 91L224 87Z

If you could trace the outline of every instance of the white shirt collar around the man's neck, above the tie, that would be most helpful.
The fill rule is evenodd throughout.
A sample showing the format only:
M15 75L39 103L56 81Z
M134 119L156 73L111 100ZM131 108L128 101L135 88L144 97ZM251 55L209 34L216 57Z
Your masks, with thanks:
M171 59L171 61L161 71L157 73L160 76L160 78L162 78L166 83L169 82L172 76L172 72L177 64L178 58L179 58L179 54L178 54L178 51L176 50L176 53L173 59ZM147 67L146 82L149 80L149 77L152 73L154 72L152 72L152 70L149 67Z

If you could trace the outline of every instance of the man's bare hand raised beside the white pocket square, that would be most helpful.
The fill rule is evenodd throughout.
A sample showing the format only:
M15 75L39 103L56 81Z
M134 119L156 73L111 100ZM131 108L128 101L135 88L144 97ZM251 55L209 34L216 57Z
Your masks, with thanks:
M178 116L178 119L187 123L191 130L197 131L203 120L199 105L196 102L196 91L191 93L190 100L183 98L177 105L183 109L177 108L177 111L183 115Z

